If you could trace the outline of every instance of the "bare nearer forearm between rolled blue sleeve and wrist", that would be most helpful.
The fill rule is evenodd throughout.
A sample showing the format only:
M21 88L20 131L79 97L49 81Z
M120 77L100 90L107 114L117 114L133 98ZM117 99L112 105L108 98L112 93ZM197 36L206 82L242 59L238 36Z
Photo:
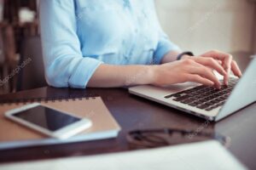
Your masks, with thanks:
M87 87L114 88L140 84L150 84L153 81L154 65L100 65Z

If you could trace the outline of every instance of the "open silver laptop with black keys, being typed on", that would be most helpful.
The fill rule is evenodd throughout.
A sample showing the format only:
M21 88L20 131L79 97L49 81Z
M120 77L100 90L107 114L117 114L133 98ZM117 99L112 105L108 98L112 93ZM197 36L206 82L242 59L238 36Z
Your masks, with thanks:
M256 101L256 58L240 79L230 76L229 85L221 89L185 82L168 87L135 86L129 93L217 122Z

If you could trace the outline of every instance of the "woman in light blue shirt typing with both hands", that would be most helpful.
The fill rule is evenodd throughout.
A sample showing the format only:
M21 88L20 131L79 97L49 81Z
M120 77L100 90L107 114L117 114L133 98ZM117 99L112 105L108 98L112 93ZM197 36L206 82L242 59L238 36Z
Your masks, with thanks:
M190 56L162 31L153 0L44 0L40 24L46 79L54 87L199 82L220 88L241 77L230 54Z

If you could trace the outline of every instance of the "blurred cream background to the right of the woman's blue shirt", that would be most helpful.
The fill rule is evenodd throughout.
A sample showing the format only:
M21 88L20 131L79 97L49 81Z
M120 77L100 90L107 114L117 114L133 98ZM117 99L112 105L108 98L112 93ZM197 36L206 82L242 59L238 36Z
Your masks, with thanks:
M256 50L253 0L156 0L160 23L181 48L201 54Z

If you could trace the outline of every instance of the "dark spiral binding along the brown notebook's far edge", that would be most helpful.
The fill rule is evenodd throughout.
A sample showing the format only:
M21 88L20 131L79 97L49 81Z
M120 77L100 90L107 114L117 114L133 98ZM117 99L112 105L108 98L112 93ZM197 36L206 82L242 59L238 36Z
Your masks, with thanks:
M96 99L99 95L68 95L68 96L55 96L55 97L39 97L39 98L27 98L27 99L0 99L0 105L19 105L19 104L31 104L34 102L44 102L48 103L50 102L55 102L55 101L68 101L69 99L72 99L73 101L75 100L82 100L82 99Z

